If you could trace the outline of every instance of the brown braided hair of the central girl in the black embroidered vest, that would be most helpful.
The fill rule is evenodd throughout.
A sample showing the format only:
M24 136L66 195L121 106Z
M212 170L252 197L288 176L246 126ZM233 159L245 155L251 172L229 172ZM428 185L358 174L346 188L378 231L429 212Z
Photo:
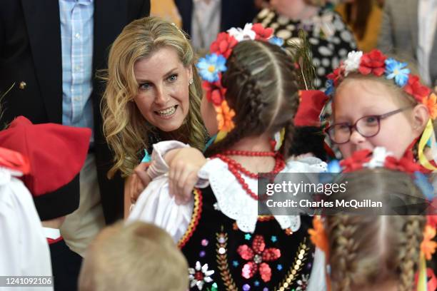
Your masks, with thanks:
M226 101L236 112L236 127L211 145L206 155L219 153L248 136L272 135L286 128L281 153L288 157L293 142L293 117L298 108L298 83L293 59L264 41L241 41L226 62L222 84Z

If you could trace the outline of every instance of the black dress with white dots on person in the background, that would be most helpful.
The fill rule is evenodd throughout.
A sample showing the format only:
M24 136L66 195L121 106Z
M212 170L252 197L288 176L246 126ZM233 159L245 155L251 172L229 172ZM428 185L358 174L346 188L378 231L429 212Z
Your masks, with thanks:
M283 39L286 47L298 41L300 29L306 31L316 67L314 86L317 89L325 89L326 75L338 67L349 51L356 49L353 34L341 16L330 9L320 9L316 16L304 21L288 19L271 9L263 9L253 22L274 29L274 35Z

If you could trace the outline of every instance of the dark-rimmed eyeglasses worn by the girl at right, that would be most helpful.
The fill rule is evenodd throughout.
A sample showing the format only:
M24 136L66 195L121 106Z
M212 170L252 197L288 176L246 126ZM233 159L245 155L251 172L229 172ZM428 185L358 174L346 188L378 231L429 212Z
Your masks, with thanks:
M376 136L381 130L381 119L388 118L388 116L393 116L410 108L411 106L408 106L381 115L363 116L353 124L347 122L336 123L326 128L325 132L328 133L331 141L336 144L347 143L351 139L353 129L358 131L361 136L371 138Z

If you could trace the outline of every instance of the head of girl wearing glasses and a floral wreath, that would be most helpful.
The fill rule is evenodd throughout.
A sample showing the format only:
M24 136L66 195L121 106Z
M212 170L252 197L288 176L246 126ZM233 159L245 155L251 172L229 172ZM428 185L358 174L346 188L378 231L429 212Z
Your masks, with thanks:
M326 133L343 158L383 146L396 158L413 150L425 168L435 169L424 151L427 142L435 144L436 95L406 66L378 50L352 51L328 75L333 114Z

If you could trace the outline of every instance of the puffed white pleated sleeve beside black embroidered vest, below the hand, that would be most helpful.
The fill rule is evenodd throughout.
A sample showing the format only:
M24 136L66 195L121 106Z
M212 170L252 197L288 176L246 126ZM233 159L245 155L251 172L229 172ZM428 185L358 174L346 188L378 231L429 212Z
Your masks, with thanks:
M127 223L136 220L153 223L166 230L174 242L178 242L188 230L193 208L192 198L186 205L176 204L174 197L169 194L169 179L161 175L141 193Z

